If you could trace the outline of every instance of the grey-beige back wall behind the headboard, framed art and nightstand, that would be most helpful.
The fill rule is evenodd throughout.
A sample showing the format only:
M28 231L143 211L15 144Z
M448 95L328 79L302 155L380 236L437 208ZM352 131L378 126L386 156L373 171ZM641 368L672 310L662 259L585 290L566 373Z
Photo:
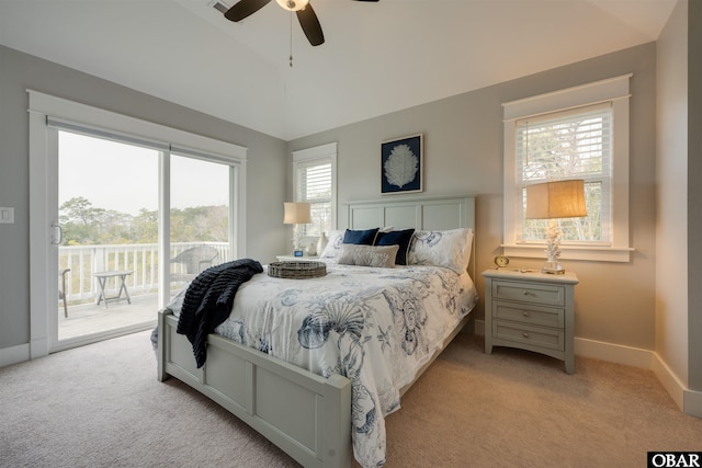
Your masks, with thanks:
M380 195L380 145L424 135L424 193L477 195L477 271L492 266L502 239L503 102L633 72L631 80L629 263L568 261L577 273L576 335L654 349L656 45L631 49L520 78L377 118L293 140L288 152L339 142L339 202ZM288 193L290 174L288 174ZM344 220L340 219L340 226ZM514 259L539 267L541 260ZM484 282L477 285L485 297ZM477 318L484 318L480 301Z

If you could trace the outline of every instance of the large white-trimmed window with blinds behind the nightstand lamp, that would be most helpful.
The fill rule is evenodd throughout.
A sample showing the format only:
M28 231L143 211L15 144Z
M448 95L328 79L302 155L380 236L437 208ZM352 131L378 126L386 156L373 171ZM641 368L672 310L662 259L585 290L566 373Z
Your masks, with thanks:
M547 220L524 219L525 187L581 179L588 217L559 219L562 259L629 262L630 79L622 75L502 103L507 255L543 258Z

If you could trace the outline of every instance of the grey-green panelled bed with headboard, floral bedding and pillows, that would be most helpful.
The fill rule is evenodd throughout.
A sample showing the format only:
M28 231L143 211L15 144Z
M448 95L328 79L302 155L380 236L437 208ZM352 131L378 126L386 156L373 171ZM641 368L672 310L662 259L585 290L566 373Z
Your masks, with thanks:
M327 274L281 279L264 272L242 284L229 318L207 335L202 367L177 332L179 297L159 312L159 380L190 385L305 467L348 467L352 453L362 466L383 465L385 415L477 301L473 197L344 207L349 232L330 233L320 259ZM386 242L342 243L369 232ZM405 239L400 246L394 236ZM407 265L386 267L403 251Z

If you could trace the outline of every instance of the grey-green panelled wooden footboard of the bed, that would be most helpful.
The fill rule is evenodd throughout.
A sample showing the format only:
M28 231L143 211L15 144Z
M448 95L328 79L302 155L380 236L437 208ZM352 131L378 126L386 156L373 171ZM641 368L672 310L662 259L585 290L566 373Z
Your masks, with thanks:
M317 376L223 336L197 368L169 310L158 317L158 378L173 376L249 424L305 467L351 466L351 383Z

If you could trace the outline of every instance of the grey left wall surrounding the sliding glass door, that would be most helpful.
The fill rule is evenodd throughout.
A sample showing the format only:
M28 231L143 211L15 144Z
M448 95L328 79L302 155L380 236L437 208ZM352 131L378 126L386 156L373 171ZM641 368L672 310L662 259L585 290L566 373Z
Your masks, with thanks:
M247 147L246 254L269 262L283 251L283 140L0 46L0 206L15 208L15 222L0 225L0 350L30 340L27 88Z

